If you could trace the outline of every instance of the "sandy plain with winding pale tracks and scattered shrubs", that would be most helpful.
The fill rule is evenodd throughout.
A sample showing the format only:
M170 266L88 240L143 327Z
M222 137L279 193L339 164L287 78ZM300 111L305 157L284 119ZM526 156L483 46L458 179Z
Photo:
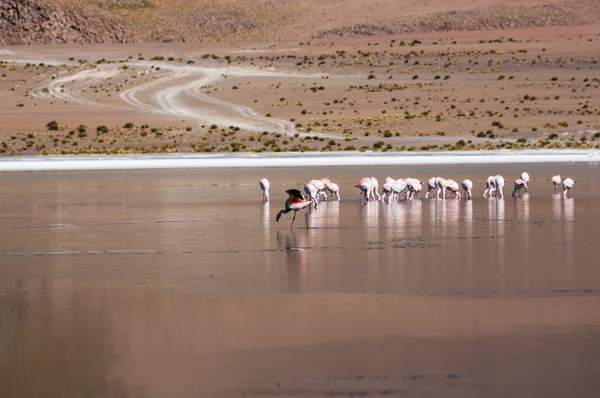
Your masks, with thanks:
M596 25L7 47L0 152L594 148L598 45Z

